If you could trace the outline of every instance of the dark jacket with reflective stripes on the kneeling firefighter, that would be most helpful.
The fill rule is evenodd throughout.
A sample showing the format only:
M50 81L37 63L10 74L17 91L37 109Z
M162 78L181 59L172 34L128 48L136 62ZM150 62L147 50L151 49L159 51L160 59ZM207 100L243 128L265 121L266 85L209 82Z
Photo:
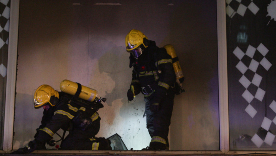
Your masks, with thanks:
M58 92L58 103L54 107L50 107L47 111L44 110L39 132L35 135L35 140L42 144L50 141L53 135L59 130L70 130L73 127L74 117L78 112L89 112L91 122L100 120L99 114L93 109L87 109L75 102L70 101L72 95L64 92Z

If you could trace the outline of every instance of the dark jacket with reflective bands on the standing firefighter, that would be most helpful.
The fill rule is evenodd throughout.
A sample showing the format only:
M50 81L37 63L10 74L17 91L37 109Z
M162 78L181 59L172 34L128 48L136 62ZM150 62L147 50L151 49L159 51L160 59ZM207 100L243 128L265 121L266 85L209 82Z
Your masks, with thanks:
M158 48L154 41L149 41L142 55L135 60L130 56L132 70L131 85L145 98L150 99L150 104L159 104L168 89L175 85L176 76L172 65L172 57L165 48Z

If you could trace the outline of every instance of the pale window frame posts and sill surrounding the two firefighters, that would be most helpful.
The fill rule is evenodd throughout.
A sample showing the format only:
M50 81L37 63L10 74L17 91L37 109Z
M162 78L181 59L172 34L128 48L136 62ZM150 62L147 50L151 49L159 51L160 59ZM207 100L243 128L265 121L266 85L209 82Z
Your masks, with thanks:
M11 0L10 23L9 23L9 48L7 65L7 89L4 116L4 138L3 150L12 151L13 123L15 108L15 86L17 67L18 46L18 20L20 0ZM227 46L226 46L226 1L217 2L217 44L218 44L218 84L219 84L219 124L220 124L220 149L215 151L79 151L79 150L37 150L33 153L55 153L55 154L247 154L260 151L230 151L229 141L229 107L228 107L228 77L227 77ZM276 151L261 151L261 153L276 154Z

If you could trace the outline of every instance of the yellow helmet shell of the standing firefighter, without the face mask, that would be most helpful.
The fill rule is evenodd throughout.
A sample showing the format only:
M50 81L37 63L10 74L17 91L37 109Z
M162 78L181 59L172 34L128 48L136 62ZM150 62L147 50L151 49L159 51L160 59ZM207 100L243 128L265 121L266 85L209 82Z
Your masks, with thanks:
M141 31L132 29L126 35L126 50L130 52L131 50L138 48L141 44L147 48L148 45L145 45L144 38L148 40L145 34L143 34Z

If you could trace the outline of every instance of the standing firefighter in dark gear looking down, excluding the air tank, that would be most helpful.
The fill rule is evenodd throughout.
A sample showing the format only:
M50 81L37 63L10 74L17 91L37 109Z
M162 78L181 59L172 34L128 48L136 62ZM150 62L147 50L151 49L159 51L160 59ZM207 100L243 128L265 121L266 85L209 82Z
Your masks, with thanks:
M126 51L130 53L129 67L133 67L127 97L131 101L140 92L144 94L147 129L152 138L142 150L166 150L175 96L172 87L176 83L172 57L135 29L126 35Z

